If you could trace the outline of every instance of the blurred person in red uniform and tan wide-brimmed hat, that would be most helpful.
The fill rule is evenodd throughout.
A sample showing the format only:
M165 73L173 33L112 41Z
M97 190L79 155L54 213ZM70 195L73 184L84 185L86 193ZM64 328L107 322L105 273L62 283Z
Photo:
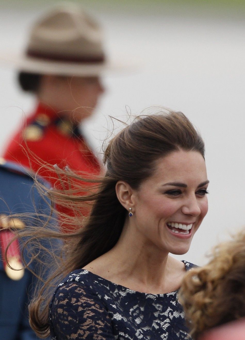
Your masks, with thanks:
M120 68L107 61L99 24L78 5L57 6L36 21L25 55L11 62L20 70L21 88L33 93L37 106L4 158L39 170L52 185L57 177L46 164L99 174L99 161L79 125L93 114L104 92L101 74Z

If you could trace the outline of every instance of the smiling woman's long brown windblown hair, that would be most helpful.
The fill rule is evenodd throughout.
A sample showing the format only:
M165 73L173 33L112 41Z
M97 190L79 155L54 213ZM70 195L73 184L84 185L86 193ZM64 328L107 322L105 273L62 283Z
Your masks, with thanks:
M118 242L127 211L117 199L116 183L125 181L137 189L153 174L156 160L180 149L196 151L204 157L204 142L187 117L180 112L161 112L137 117L109 141L104 152L106 173L103 177L81 177L67 169L56 169L63 188L54 187L47 194L58 205L72 207L75 216L63 215L60 220L66 225L75 224L77 231L69 234L46 228L29 231L32 239L42 236L65 240L62 256L56 258L57 270L29 307L30 323L39 337L49 335L49 303L57 282L108 252ZM85 182L93 184L89 192L88 186L81 189L81 183ZM90 207L86 220L81 212L84 204ZM25 233L27 236L28 232Z

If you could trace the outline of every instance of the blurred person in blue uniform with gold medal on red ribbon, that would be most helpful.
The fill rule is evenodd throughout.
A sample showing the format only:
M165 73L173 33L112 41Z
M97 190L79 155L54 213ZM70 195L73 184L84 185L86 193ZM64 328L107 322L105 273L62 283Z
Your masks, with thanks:
M49 261L47 254L42 253L41 246L53 252L57 240L53 239L51 245L47 239L42 239L35 248L36 258L29 264L30 270L27 270L24 269L24 262L29 263L32 255L27 248L22 254L26 239L13 239L16 230L26 229L30 225L40 227L47 222L50 215L49 201L39 194L30 172L2 158L0 182L0 339L36 340L28 313L28 304L40 282L34 273L46 277L48 268L40 267L40 262L48 264ZM10 216L12 214L15 214L14 218Z

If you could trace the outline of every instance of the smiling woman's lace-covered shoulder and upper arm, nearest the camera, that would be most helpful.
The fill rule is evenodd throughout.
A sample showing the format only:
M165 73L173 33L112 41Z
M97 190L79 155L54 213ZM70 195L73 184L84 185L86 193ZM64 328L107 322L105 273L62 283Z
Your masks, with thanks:
M52 339L57 335L62 339L74 336L75 339L90 339L98 333L112 339L110 318L101 299L103 292L100 293L90 274L84 269L75 270L56 288L49 306Z

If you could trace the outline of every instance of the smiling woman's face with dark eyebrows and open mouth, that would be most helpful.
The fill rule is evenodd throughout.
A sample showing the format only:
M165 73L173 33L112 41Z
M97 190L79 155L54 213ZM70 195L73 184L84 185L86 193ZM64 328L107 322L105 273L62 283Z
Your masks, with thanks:
M207 172L196 151L174 151L157 160L153 175L133 191L130 218L143 242L185 254L208 211Z

